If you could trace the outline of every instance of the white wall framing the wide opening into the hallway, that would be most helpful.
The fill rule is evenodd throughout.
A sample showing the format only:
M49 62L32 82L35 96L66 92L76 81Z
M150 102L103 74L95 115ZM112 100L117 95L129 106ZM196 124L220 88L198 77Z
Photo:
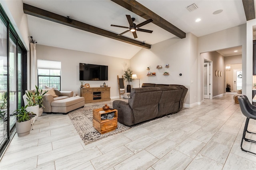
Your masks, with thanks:
M208 52L208 51L216 51L218 49L225 49L230 47L236 47L242 45L242 72L243 77L242 81L248 83L250 81L250 88L252 88L252 78L251 80L248 80L248 77L246 76L246 72L250 73L252 75L252 71L249 71L252 69L251 65L246 65L246 24L232 27L226 30L222 30L219 32L215 32L212 34L208 34L206 36L202 36L198 38L198 96L200 96L199 101L201 102L204 99L203 94L203 75L204 75L204 58L200 56L200 53ZM250 59L251 58L251 59ZM252 63L252 57L248 58L250 60L250 63ZM215 70L214 70L215 71ZM252 76L250 76L252 77ZM243 83L243 93L250 96L252 96L252 91L247 93L246 91L246 85Z

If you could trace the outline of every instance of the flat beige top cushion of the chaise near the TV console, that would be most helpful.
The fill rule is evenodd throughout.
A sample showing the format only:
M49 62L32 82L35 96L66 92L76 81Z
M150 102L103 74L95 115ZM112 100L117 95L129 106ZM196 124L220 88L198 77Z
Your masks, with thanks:
M68 97L66 99L52 101L51 106L68 107L82 101L84 101L84 97Z

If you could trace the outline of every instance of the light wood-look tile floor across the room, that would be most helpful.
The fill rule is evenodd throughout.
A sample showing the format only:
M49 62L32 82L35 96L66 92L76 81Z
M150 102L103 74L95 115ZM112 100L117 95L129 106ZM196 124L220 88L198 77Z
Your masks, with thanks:
M43 115L29 135L14 136L0 169L256 169L256 155L240 149L245 117L232 97L206 99L170 118L87 145L68 115ZM256 131L256 122L249 124ZM256 140L256 135L252 138ZM244 142L244 148L256 152L254 144Z

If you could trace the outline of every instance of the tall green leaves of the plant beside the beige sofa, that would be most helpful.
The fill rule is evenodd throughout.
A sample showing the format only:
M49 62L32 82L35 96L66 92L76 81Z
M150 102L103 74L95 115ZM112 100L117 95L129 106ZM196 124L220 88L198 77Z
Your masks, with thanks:
M43 97L44 95L48 92L48 91L44 91L44 93L42 93L43 90L41 89L40 91L38 90L38 87L36 86L36 91L35 92L25 92L26 96L27 96L27 101L28 101L28 106L36 106L39 105L40 107L44 107L43 106Z

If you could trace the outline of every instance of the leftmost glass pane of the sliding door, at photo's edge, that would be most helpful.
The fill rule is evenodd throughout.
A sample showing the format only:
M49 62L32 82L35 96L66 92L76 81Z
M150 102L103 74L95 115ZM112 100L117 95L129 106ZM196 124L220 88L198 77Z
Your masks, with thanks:
M7 28L0 20L0 147L8 139L7 121Z

